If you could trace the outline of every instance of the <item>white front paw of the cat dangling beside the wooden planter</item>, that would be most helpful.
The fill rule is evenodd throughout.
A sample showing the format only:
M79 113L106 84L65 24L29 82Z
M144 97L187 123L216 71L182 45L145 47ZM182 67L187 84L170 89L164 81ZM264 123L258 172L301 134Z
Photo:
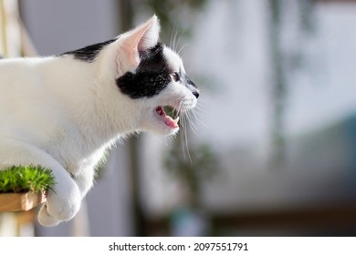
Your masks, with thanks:
M43 226L55 226L60 221L72 219L80 209L81 196L79 188L73 187L70 193L54 192L47 194L46 204L38 212L38 221Z

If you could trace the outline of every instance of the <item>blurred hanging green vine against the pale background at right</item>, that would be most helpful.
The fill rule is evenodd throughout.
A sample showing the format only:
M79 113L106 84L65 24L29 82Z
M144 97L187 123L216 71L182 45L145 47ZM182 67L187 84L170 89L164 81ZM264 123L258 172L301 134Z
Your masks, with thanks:
M296 10L296 5L297 9ZM272 155L270 168L284 168L287 155L287 141L285 134L286 106L288 104L288 87L293 72L304 67L306 57L301 46L302 40L314 31L314 1L300 0L288 2L286 0L269 0L269 40L272 66L272 92L271 104L273 116L271 119L271 147ZM294 31L283 27L288 19L293 20L293 14L297 13L298 28ZM295 33L296 42L288 41L293 47L286 47L282 38L285 33ZM286 50L286 48L288 50Z

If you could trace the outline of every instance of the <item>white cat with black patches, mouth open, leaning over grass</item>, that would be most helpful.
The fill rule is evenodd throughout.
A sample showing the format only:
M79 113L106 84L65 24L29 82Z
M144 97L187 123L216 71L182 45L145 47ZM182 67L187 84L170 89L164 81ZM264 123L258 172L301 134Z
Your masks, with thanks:
M37 219L72 219L95 166L116 141L141 131L172 136L199 90L159 41L156 15L110 41L58 56L0 60L0 169L50 168L56 179ZM175 109L170 117L164 111Z

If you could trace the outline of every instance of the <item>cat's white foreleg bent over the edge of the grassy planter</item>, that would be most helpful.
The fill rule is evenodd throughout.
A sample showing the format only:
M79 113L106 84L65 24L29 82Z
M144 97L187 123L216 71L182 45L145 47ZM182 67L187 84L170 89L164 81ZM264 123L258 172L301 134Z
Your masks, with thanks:
M78 185L56 159L41 149L12 138L0 138L0 169L18 165L40 165L52 170L56 184L47 192L47 201L38 213L42 225L57 225L72 219L79 211Z

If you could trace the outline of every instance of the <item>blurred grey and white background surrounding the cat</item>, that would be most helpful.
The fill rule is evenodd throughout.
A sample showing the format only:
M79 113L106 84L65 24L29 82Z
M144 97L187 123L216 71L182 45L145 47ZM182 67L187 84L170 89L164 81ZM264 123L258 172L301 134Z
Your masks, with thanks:
M43 228L36 209L3 213L0 235L356 235L356 1L0 6L3 56L58 55L155 13L201 89L178 138L141 134L110 152L75 219Z

